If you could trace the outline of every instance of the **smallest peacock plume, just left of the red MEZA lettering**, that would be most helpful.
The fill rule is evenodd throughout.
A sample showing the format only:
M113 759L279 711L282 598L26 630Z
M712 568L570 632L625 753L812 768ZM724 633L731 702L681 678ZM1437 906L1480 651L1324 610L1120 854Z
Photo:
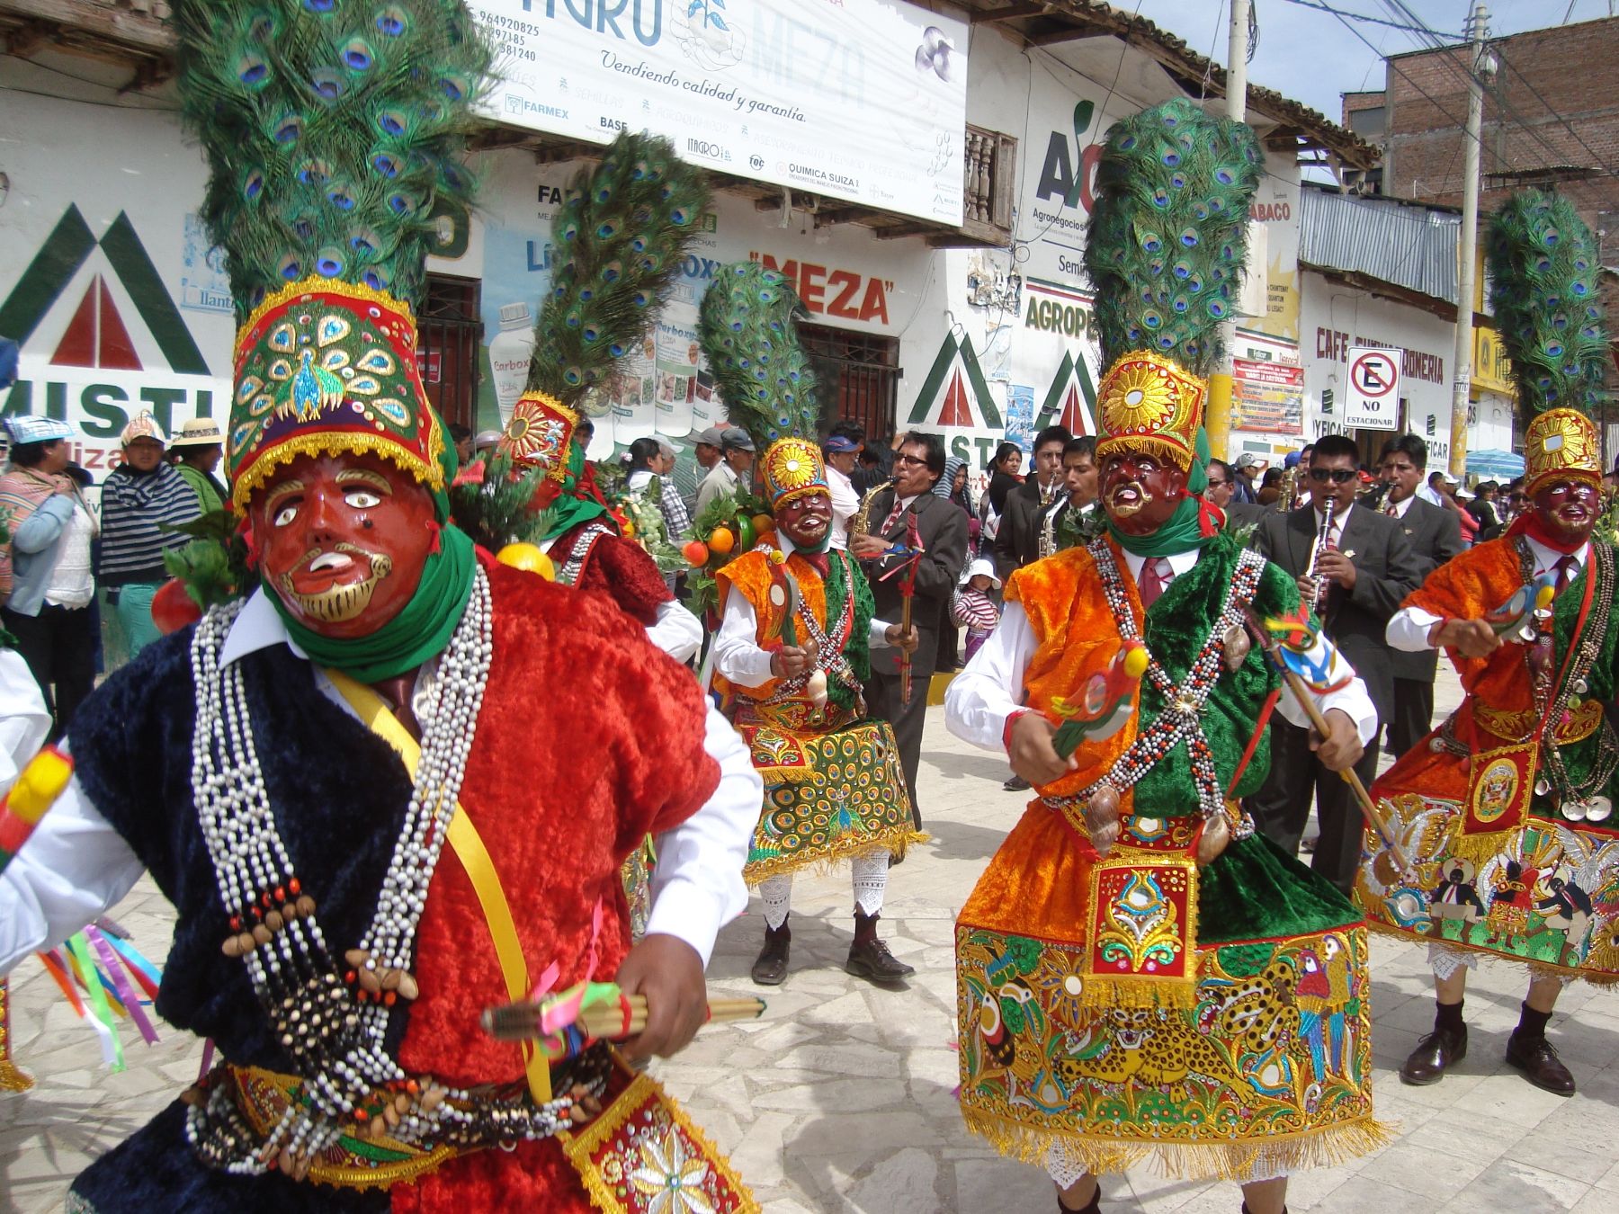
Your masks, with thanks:
M814 439L821 408L814 369L798 343L798 293L777 270L743 261L714 275L698 342L732 426L763 452L777 439Z

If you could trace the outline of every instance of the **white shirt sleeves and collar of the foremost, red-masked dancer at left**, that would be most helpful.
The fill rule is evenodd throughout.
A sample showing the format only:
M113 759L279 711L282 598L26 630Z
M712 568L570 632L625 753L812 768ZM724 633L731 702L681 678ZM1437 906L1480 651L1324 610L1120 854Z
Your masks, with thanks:
M220 665L272 644L308 660L264 591L254 591L220 649ZM436 677L429 659L416 678L418 717ZM355 711L317 669L322 694ZM560 745L560 743L559 743ZM690 819L657 837L648 934L690 944L708 965L719 929L748 905L742 866L764 803L764 782L730 722L709 704L703 749L719 764L714 795ZM457 863L457 861L447 861ZM36 827L28 847L0 872L0 974L39 949L52 949L117 905L141 877L134 851L91 803L74 777Z

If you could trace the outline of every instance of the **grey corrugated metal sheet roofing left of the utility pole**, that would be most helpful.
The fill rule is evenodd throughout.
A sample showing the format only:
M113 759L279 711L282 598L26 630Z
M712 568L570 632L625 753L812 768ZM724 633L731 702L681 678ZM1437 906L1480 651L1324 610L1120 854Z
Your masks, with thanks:
M1387 197L1298 191L1298 261L1455 303L1460 217Z

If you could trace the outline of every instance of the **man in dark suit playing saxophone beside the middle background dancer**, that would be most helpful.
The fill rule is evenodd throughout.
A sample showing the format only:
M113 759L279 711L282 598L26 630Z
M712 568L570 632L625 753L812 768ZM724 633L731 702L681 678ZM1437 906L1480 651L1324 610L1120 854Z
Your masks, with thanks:
M900 703L897 652L876 649L871 654L871 678L866 680L866 711L894 725L918 827L921 809L916 801L916 766L921 762L928 678L939 652L942 609L950 602L955 581L967 568L967 515L954 502L933 492L941 476L944 476L944 442L939 435L918 431L902 435L894 456L894 486L871 500L868 513L871 531L865 536L850 536L848 541L850 552L861 562L871 583L876 618L899 620L905 573L884 578L897 565L903 565L905 557L884 554L895 542L907 541L910 520L916 520L916 539L923 557L916 565L916 599L911 604L911 623L918 633L916 652L911 654L911 698L908 704Z

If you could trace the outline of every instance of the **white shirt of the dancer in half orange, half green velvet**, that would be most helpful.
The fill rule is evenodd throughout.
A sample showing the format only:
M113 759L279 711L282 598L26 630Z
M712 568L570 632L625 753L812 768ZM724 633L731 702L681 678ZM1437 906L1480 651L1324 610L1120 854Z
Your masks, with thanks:
M1124 560L1130 576L1140 581L1146 557L1125 552ZM1177 552L1167 560L1179 578L1196 563L1198 550ZM1023 612L1023 604L1005 604L1001 612L1001 626L979 646L973 660L950 681L949 691L944 693L944 720L950 733L988 751L1004 753L1007 717L1023 707L1023 672L1036 649L1038 641L1028 615ZM1342 654L1339 654L1339 660L1342 660ZM1347 714L1355 722L1362 746L1371 741L1378 730L1378 711L1371 704L1371 696L1366 694L1366 685L1358 677L1337 691L1324 696L1313 694L1311 699L1321 712L1339 709ZM1294 725L1302 728L1310 725L1303 707L1295 704L1289 694L1276 701L1276 711Z

